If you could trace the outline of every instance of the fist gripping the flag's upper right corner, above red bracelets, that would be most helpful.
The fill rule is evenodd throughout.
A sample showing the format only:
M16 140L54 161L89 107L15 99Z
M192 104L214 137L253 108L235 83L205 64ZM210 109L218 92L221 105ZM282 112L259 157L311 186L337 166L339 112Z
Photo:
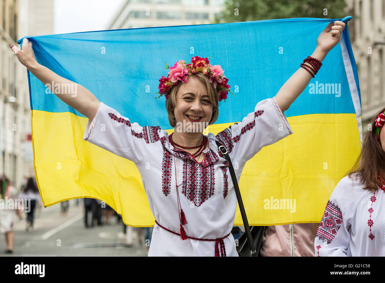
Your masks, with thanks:
M328 54L340 41L345 25L346 23L341 21L330 22L320 35L318 35L317 47L325 52L325 54Z

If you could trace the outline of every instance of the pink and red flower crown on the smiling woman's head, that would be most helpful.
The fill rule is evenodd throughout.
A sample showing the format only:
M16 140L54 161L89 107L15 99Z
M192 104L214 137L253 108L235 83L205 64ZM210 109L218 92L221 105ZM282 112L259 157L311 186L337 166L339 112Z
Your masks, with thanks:
M228 92L233 94L233 92L230 91L230 86L227 84L229 79L223 75L223 70L220 65L213 66L210 64L210 57L211 55L209 56L209 59L207 57L191 57L190 64L186 64L184 60L180 60L175 63L174 67L169 67L165 62L166 69L170 69L170 71L168 72L167 77L162 76L159 80L159 92L156 94L160 95L154 98L157 99L164 94L167 99L169 97L167 92L172 86L178 84L179 81L187 82L187 76L192 73L201 72L209 77L209 81L214 84L214 88L220 92L219 101L224 99L224 102L226 102Z

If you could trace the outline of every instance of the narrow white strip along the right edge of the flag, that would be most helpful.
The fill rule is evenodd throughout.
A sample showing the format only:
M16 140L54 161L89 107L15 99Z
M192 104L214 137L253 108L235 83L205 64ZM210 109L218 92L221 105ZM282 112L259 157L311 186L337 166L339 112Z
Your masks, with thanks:
M356 111L358 132L360 133L360 141L361 141L361 147L362 147L362 121L361 121L360 97L358 96L358 89L357 89L356 81L354 79L352 63L350 62L350 57L349 57L348 49L346 48L344 37L341 37L340 45L341 45L343 64L345 65L346 77L348 78L350 94L352 95L353 105Z

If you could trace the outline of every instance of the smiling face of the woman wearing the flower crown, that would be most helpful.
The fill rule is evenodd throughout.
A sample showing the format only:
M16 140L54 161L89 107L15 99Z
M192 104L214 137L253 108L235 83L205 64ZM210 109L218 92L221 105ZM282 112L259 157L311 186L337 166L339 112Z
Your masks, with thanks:
M192 75L187 77L187 82L181 84L176 93L174 109L176 131L203 132L213 114L213 105L210 103L206 85ZM194 121L189 117L199 119Z

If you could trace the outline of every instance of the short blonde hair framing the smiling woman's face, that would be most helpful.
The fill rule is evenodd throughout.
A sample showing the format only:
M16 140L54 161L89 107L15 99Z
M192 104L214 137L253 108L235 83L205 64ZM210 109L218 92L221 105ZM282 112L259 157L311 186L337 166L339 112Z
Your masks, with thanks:
M209 78L201 72L192 73L191 75L195 76L200 80L207 88L207 94L209 95L209 101L213 105L213 114L211 115L211 120L209 125L214 124L218 120L219 116L219 91L214 88L213 83L209 81ZM176 93L178 92L179 87L182 85L182 82L179 82L177 85L174 85L169 89L167 94L169 97L166 99L166 110L168 114L168 119L171 127L176 126L176 119L174 115L174 109L176 105Z

